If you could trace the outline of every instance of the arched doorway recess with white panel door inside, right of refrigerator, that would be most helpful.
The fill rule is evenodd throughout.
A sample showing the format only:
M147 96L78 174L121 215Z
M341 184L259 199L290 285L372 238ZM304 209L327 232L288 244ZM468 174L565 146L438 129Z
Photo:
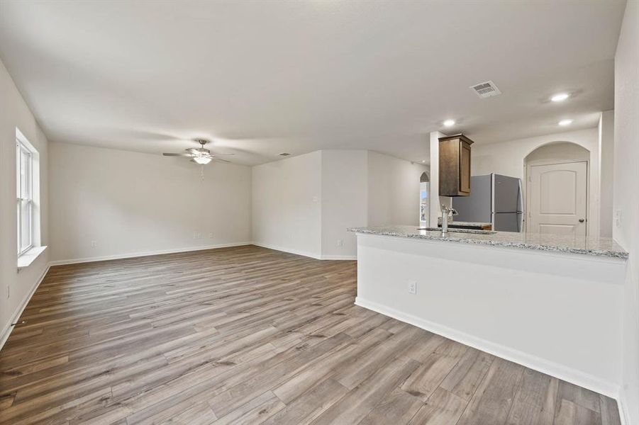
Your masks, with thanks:
M526 166L526 231L586 236L590 151L572 142L533 150Z

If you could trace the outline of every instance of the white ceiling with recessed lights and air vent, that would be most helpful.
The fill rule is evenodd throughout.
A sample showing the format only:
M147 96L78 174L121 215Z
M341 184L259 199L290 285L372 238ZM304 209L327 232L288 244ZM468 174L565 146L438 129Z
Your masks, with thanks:
M623 1L2 1L0 57L53 141L428 158L613 108ZM501 96L469 86L492 80ZM549 103L557 91L574 96ZM442 121L457 120L452 129Z

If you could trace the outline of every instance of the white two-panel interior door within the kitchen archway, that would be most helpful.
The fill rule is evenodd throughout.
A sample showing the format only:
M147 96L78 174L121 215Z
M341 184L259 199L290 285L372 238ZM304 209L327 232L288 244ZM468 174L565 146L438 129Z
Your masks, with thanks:
M585 236L587 163L530 166L528 232Z

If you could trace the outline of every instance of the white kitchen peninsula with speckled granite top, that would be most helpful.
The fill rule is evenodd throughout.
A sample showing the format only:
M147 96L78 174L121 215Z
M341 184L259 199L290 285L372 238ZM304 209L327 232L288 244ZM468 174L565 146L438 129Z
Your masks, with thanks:
M443 235L416 226L350 231L357 305L616 395L628 254L612 239Z

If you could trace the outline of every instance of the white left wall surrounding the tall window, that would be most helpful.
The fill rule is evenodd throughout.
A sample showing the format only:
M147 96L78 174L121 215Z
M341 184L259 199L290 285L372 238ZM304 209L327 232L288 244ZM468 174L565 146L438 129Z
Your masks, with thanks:
M26 298L47 269L46 250L27 268L17 272L16 127L40 154L40 242L49 244L48 142L35 122L9 72L0 62L0 345L17 319ZM7 297L9 287L10 297Z

